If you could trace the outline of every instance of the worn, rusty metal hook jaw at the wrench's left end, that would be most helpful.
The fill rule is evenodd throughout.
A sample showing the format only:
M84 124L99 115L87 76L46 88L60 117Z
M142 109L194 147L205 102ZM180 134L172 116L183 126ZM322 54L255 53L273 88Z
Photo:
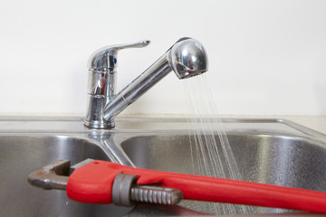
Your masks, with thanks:
M70 160L59 160L28 175L28 182L45 190L65 190L70 174Z

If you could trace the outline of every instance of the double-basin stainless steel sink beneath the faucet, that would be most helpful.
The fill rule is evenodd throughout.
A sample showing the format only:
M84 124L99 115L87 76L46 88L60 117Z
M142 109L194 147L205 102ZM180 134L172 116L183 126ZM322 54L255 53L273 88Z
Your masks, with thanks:
M280 119L223 119L223 122L244 180L326 192L325 135ZM205 127L220 130L214 122L206 123ZM27 183L29 173L59 159L70 159L75 164L95 158L193 174L197 172L192 166L197 164L197 154L191 154L189 145L194 139L189 136L193 128L187 118L117 118L112 130L83 127L82 118L0 118L0 216L212 213L197 202L169 207L139 204L132 208L77 203L62 191L45 191ZM252 212L275 215L288 211L255 207Z

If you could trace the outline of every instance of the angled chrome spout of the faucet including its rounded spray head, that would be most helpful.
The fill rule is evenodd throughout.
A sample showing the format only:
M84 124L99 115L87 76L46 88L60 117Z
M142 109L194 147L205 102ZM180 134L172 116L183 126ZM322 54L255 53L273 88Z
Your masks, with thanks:
M194 39L180 39L149 69L140 74L123 90L120 90L108 102L104 108L104 118L115 118L159 80L166 77L170 71L175 71L178 79L187 79L204 73L207 69L207 55L203 45Z

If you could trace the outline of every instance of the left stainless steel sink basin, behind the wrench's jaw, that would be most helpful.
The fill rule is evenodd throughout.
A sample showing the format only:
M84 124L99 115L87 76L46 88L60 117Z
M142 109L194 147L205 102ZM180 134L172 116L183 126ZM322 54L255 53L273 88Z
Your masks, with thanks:
M76 164L84 159L109 160L100 146L68 136L14 134L0 136L0 216L118 216L129 211L113 205L76 203L64 191L45 191L27 176L58 159Z

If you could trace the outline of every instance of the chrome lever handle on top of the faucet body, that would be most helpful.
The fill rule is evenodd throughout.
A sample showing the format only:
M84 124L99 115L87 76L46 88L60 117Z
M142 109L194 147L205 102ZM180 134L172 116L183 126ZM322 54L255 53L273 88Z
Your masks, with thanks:
M126 48L141 48L149 45L149 40L142 40L134 43L116 44L102 47L91 54L87 67L90 70L107 70L117 67L117 53Z

